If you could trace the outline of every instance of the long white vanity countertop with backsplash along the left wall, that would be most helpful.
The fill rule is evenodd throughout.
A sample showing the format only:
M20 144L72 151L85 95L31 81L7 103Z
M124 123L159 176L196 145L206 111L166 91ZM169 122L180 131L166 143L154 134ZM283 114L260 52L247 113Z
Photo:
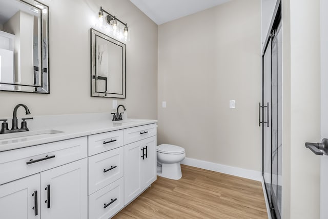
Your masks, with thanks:
M105 116L104 116L105 115ZM103 118L99 120L99 118ZM37 132L38 130L57 130L61 133L55 134L40 134L28 137L12 138L9 134L0 134L0 151L13 150L17 148L30 147L34 145L46 144L50 142L57 142L67 140L70 138L82 137L91 134L98 134L108 131L115 131L119 129L126 129L135 126L142 126L157 123L157 120L141 120L128 119L123 121L112 122L110 115L107 113L96 114L72 114L72 115L56 115L56 116L37 116L34 117L37 122L29 127L30 132ZM60 124L60 120L63 124ZM9 126L11 126L11 121ZM120 123L121 122L121 123ZM20 123L18 122L20 125ZM47 124L47 125L40 125ZM10 128L10 127L9 127ZM25 133L25 132L20 132Z

